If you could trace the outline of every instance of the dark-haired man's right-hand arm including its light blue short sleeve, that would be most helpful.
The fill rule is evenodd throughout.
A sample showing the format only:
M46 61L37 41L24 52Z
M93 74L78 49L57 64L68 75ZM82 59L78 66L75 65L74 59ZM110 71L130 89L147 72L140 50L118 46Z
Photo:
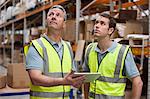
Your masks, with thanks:
M140 77L140 73L134 62L133 54L129 50L126 60L125 60L125 74L127 78L132 81L132 98L140 99L143 82Z

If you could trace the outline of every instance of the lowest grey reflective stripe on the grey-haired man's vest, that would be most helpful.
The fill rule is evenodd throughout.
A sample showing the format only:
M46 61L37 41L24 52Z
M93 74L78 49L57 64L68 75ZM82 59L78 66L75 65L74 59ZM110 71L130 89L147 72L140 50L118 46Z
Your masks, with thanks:
M44 97L44 98L57 98L57 97L62 97L64 94L64 97L69 96L69 92L55 92L55 93L50 93L50 92L36 92L36 91L30 91L31 96L36 96L36 97Z

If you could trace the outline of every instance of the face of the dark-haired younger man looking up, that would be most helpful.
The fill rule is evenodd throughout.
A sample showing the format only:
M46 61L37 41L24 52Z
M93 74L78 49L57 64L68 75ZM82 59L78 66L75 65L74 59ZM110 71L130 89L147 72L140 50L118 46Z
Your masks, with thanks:
M109 19L99 16L94 24L94 36L106 37L110 34L109 32Z

